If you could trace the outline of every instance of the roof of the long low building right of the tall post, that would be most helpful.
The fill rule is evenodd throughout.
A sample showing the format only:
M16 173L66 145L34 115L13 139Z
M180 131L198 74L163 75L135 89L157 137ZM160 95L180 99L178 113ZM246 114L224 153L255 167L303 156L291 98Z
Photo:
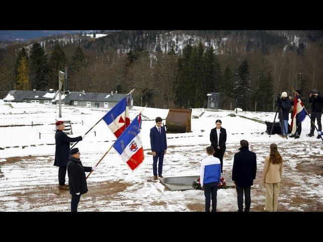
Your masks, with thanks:
M70 101L101 101L101 102L119 102L127 94L123 93L97 93L97 92L70 92L62 95L62 102L69 103ZM53 102L59 101L58 92L52 100Z

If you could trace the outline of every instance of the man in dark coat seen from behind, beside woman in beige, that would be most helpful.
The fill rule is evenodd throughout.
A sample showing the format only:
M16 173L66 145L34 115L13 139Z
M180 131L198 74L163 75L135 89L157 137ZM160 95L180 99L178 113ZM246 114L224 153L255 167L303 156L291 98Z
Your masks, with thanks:
M232 180L236 185L238 195L238 211L243 211L243 193L245 196L245 212L249 212L251 198L250 188L253 185L253 180L256 178L257 161L256 154L249 151L249 143L246 140L240 141L240 152L234 155Z

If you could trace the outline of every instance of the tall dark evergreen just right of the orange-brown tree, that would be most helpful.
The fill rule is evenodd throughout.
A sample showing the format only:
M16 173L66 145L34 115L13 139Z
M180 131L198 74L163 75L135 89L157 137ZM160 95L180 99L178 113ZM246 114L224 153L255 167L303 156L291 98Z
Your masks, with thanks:
M49 81L49 66L44 49L37 42L30 50L30 81L32 89L46 90Z

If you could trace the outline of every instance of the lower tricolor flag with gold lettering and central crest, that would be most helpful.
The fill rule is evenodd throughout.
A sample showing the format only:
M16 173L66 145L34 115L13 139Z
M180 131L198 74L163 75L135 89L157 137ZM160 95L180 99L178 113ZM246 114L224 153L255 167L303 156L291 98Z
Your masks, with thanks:
M116 140L113 147L130 169L135 170L143 161L143 147L140 134L141 116L137 115L130 126Z

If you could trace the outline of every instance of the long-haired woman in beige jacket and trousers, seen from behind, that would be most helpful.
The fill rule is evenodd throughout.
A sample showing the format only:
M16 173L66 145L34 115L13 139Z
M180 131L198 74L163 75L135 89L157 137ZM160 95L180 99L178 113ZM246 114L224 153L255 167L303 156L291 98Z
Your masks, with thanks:
M264 210L277 212L278 194L283 173L283 158L277 145L271 144L271 154L264 160L263 182L266 184L266 201Z

